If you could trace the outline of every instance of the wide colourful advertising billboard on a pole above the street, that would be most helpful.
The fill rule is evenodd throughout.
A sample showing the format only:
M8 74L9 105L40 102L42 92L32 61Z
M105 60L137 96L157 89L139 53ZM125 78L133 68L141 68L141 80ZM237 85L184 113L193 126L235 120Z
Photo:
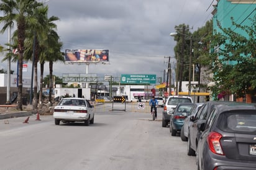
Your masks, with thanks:
M68 63L90 63L109 61L109 50L65 50Z

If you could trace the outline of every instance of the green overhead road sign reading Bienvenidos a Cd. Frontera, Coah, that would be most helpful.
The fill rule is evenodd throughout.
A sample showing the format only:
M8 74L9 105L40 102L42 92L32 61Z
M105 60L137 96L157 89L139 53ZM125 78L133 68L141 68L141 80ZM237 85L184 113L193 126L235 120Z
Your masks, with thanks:
M121 84L155 84L155 74L121 74Z

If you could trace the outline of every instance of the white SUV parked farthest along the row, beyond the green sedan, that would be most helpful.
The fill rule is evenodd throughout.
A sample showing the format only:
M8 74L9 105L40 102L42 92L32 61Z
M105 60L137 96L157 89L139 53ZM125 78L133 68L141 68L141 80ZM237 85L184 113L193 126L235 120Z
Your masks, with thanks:
M169 96L163 107L162 127L170 123L171 113L179 103L193 103L193 100L189 96Z

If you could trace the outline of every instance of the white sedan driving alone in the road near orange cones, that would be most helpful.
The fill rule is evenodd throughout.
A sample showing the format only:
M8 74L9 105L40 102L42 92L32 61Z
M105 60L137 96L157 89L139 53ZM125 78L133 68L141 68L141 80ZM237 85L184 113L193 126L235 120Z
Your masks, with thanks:
M55 125L60 125L60 121L66 122L85 122L94 123L93 105L83 98L63 98L62 101L54 107L53 118Z

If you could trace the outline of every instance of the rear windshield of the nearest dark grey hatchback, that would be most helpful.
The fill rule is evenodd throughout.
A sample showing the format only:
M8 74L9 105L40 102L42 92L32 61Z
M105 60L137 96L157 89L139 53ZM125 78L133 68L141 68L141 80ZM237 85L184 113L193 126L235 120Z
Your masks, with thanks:
M221 114L218 127L225 132L256 133L256 112Z

